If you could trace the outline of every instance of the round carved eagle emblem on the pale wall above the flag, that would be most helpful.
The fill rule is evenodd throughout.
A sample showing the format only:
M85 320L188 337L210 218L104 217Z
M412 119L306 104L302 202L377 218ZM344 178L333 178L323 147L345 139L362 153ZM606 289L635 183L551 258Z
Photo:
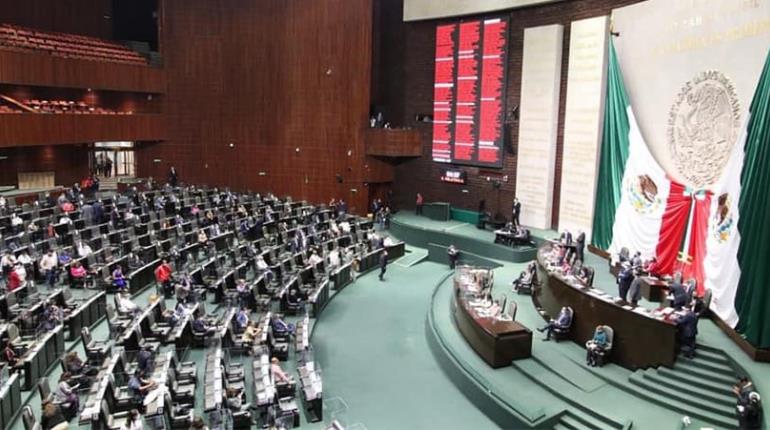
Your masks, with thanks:
M668 118L668 147L689 185L705 188L719 179L739 128L738 96L724 74L701 72L682 87Z

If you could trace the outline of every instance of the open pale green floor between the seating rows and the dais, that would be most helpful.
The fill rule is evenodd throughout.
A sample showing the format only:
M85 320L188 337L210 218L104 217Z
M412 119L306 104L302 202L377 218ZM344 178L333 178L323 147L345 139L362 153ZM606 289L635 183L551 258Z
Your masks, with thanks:
M496 428L436 363L425 336L433 287L446 266L388 266L346 287L313 334L323 366L324 402L341 404L344 424L369 429ZM331 412L325 410L324 413ZM328 417L325 417L328 420ZM361 427L359 427L361 428Z

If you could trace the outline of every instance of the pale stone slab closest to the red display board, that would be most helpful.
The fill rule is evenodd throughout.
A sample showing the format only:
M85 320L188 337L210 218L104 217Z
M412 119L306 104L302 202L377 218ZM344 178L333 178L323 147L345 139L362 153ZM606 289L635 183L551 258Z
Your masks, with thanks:
M516 197L521 222L551 227L564 27L524 30Z

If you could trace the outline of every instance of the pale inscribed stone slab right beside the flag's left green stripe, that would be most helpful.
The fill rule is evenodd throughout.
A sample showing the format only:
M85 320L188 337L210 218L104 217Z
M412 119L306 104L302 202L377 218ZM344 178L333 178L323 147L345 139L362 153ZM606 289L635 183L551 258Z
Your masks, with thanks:
M607 71L607 16L574 21L569 42L559 229L591 237Z

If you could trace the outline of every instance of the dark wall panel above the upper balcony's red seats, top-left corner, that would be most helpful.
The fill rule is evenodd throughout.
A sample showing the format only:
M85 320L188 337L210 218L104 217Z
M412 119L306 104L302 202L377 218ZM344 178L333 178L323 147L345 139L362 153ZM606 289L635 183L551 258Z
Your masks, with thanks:
M112 37L112 0L0 0L0 22L47 31Z

